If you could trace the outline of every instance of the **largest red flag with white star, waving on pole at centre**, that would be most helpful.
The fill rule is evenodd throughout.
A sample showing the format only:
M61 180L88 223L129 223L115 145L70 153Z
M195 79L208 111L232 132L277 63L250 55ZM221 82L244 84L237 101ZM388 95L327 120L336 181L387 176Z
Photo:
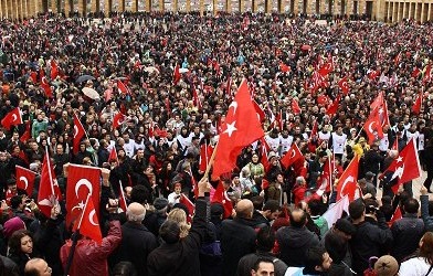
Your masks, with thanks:
M262 124L257 118L251 100L246 79L243 79L234 100L229 106L225 123L218 142L213 177L230 172L236 166L237 156L245 146L264 136Z

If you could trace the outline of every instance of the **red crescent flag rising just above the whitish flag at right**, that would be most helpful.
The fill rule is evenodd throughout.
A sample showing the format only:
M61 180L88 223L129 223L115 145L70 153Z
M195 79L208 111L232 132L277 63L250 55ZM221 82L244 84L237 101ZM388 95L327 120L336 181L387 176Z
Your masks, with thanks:
M359 157L356 155L350 161L349 166L342 172L338 179L337 184L337 201L344 198L346 194L349 195L349 201L355 200L355 193L357 191L358 181L358 169L359 169Z

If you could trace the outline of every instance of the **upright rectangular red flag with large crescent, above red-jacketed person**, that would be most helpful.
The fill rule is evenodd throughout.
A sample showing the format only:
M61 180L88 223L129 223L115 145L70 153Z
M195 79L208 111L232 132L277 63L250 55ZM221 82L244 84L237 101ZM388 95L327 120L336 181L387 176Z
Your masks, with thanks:
M95 206L99 206L101 170L98 168L73 164L67 168L66 226L70 226L83 211L87 195Z

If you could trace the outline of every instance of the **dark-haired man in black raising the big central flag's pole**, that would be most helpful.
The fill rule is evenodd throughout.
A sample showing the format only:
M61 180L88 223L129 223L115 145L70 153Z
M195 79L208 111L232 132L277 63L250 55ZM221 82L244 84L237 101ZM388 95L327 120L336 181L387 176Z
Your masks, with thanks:
M200 276L199 252L204 241L210 220L210 183L199 182L196 215L188 236L180 240L180 227L175 221L166 221L159 231L163 243L147 258L149 276Z

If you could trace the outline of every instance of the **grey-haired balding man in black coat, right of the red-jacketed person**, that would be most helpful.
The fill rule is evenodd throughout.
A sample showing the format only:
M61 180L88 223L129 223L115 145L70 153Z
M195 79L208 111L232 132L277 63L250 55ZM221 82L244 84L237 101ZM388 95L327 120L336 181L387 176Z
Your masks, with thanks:
M156 236L141 224L146 209L133 202L126 211L127 222L122 225L122 242L115 253L116 263L130 262L137 275L147 276L147 256L157 246Z

